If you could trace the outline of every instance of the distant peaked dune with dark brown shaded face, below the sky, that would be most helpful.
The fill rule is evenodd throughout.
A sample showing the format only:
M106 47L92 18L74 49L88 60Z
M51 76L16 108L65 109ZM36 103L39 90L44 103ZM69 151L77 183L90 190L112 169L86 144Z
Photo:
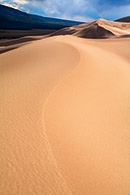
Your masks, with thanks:
M52 35L75 35L82 38L112 38L130 35L130 23L111 22L98 19L94 22L68 27L52 33Z

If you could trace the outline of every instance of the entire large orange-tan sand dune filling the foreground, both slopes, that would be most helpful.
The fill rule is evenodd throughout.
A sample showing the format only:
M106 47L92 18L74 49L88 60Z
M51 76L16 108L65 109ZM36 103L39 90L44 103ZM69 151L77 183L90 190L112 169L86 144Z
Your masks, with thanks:
M0 195L130 194L130 38L0 55Z

